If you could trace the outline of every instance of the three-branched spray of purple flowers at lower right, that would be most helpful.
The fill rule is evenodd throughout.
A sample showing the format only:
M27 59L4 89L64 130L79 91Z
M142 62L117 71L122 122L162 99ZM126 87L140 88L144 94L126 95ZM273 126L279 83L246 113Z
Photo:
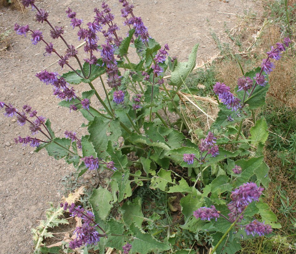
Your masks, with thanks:
M195 218L200 218L201 220L211 220L220 216L226 219L229 222L234 222L238 216L245 210L246 206L250 204L252 201L258 201L262 191L264 189L262 187L257 187L257 185L253 182L245 183L241 185L238 189L235 189L232 194L232 202L228 204L228 209L231 213L228 214L229 219L221 214L220 211L217 211L215 206L209 207L200 207L198 210L193 212L193 216ZM243 214L238 218L238 222L243 219ZM237 225L239 227L244 227L247 235L255 236L258 234L259 236L263 236L265 234L269 234L272 232L271 226L266 225L264 222L259 222L257 220L252 221L247 225Z

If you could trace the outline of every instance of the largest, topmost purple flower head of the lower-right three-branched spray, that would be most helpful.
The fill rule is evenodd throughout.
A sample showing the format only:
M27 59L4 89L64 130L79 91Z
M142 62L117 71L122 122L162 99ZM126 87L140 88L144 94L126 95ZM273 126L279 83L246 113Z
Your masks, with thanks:
M257 187L254 182L247 182L235 189L231 194L232 201L227 205L230 213L229 219L234 222L236 218L244 211L246 206L253 201L258 201L264 188ZM243 215L238 219L242 220Z

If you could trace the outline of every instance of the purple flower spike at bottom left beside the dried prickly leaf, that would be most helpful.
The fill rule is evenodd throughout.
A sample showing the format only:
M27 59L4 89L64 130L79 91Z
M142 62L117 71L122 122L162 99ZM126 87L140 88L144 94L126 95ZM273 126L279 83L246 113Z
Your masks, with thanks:
M94 214L90 211L85 211L85 209L81 206L75 206L75 203L69 205L67 202L64 204L61 203L60 207L62 207L65 211L69 209L69 213L71 217L78 217L82 219L82 225L76 227L73 232L75 235L75 239L69 242L69 247L71 249L79 248L86 244L97 244L100 241L100 237L105 236L103 234L99 234L97 227L98 224L94 221Z

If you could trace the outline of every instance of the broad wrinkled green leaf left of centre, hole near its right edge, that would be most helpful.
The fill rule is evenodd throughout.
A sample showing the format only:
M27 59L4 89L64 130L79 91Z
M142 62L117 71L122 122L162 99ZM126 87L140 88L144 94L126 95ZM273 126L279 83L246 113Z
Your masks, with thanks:
M107 148L107 127L109 122L103 122L102 119L95 117L88 126L89 141L93 143L94 150L99 157Z

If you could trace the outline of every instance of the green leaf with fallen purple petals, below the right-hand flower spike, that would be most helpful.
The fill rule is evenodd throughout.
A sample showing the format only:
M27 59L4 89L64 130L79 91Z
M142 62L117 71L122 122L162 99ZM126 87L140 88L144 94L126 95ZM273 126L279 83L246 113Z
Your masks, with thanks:
M234 123L241 122L241 120L246 119L249 116L248 107L244 107L246 114L240 112L240 110L234 112L228 109L224 104L220 103L218 106L220 108L216 121L213 122L211 129L216 129L218 133L223 132L223 128L228 125L233 125ZM228 117L231 116L233 121L228 121Z

